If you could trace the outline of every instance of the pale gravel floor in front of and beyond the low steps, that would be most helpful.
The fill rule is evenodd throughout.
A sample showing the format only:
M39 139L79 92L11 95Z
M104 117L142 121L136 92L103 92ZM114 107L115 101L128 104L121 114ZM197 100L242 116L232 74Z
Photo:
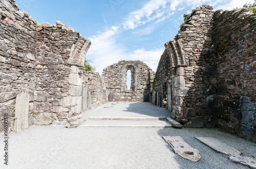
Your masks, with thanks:
M110 116L107 112L118 117L169 116L167 110L151 103L117 104L112 110L105 105L109 103L84 112L83 117ZM123 111L114 112L118 107ZM201 160L193 162L175 154L162 138L166 135L182 136L199 150ZM31 126L9 135L9 165L0 160L0 168L248 168L211 150L195 136L216 137L245 156L256 157L255 143L216 129ZM3 158L3 138L0 148Z

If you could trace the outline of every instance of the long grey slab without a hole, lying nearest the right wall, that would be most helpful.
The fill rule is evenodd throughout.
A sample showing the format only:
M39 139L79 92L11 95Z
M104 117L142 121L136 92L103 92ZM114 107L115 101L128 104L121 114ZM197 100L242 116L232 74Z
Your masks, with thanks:
M241 152L237 149L234 149L225 143L221 142L219 139L214 137L195 137L200 142L204 143L206 146L214 149L215 151L228 155L228 159L232 162L240 163L250 168L256 169L256 160L241 156Z

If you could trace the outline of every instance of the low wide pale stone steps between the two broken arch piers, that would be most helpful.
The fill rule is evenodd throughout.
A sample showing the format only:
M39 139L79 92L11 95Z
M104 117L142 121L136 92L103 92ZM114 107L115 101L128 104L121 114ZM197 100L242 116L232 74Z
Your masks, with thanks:
M117 119L117 118L115 118ZM126 118L129 119L129 118ZM152 118L153 119L153 118ZM172 127L166 120L87 120L79 127Z

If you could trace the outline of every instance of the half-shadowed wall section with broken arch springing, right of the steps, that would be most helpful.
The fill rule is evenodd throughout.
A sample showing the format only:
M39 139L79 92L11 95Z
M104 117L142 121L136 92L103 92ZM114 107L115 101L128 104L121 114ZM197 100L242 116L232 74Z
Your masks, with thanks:
M217 125L213 13L203 5L184 15L179 34L165 44L172 70L173 116L186 127Z

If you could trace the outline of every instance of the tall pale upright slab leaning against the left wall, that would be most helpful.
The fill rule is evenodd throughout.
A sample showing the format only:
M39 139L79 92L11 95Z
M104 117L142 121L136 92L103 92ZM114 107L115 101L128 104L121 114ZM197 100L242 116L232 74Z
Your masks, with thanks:
M29 94L20 93L16 97L14 131L19 132L29 127Z

